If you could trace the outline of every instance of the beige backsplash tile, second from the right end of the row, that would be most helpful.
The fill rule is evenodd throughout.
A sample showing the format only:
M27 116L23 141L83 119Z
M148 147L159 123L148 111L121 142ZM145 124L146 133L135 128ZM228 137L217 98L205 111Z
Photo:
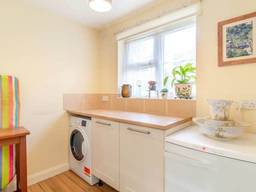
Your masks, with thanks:
M166 99L145 99L145 112L167 113Z

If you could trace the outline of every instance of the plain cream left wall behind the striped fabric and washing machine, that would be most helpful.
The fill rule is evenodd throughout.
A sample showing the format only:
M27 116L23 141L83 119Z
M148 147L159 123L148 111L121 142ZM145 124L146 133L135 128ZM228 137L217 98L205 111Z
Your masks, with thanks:
M99 92L98 31L19 0L0 0L0 74L20 80L28 175L68 162L62 94Z

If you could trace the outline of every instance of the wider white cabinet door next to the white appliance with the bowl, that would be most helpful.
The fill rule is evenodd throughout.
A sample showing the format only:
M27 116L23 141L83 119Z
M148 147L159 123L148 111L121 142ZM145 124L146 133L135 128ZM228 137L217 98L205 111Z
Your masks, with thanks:
M120 123L120 191L164 192L164 131Z

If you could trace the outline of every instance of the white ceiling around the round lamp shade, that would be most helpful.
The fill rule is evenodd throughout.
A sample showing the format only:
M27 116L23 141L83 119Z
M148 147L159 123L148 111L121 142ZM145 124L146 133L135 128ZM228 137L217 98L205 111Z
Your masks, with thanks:
M163 0L112 0L112 10L106 13L95 12L89 7L88 0L22 0L69 18L70 20L80 22L86 26L96 29L102 29L107 24L120 20L131 14L146 10Z

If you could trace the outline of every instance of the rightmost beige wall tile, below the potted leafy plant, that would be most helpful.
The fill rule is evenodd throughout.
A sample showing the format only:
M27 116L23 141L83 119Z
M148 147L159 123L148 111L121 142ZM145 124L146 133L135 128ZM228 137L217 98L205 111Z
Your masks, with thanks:
M195 117L196 116L196 100L168 99L167 113Z

